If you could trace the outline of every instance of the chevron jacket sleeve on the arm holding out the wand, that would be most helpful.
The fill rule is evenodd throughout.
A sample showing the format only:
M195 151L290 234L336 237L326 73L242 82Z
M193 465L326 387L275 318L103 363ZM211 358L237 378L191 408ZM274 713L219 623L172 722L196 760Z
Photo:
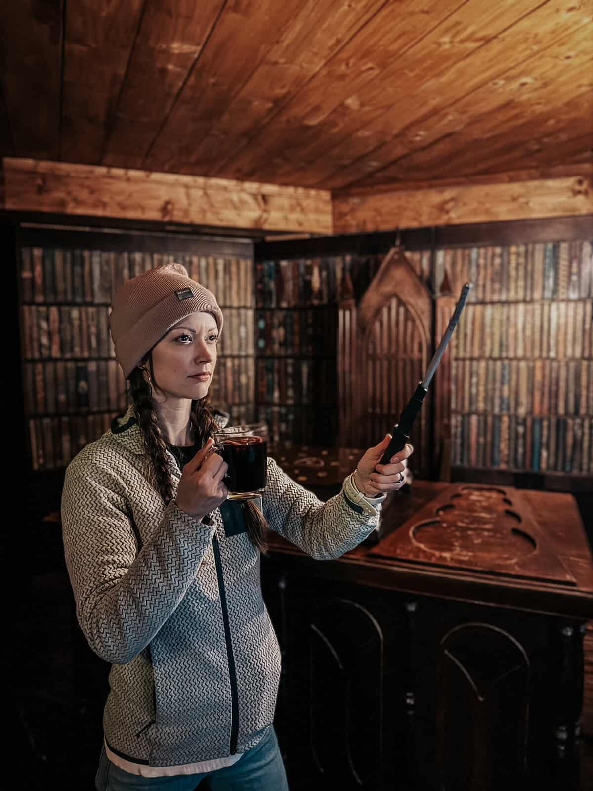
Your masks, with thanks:
M267 460L263 513L270 529L317 560L330 560L357 547L379 521L380 505L368 502L350 479L322 502Z

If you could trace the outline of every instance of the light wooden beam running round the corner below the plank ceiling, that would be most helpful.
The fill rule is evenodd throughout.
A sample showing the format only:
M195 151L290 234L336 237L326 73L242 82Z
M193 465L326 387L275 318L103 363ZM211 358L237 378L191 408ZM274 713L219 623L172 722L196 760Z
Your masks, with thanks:
M568 168L551 168L424 189L359 189L333 199L306 187L11 157L3 168L4 209L106 221L323 236L593 214L593 164L572 165L572 175L561 175Z

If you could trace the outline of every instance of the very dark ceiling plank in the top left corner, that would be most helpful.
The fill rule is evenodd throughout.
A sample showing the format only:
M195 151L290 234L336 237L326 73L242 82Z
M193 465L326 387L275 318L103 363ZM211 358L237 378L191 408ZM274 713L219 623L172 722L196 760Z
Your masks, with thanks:
M2 93L20 156L59 156L62 6L62 0L0 4Z

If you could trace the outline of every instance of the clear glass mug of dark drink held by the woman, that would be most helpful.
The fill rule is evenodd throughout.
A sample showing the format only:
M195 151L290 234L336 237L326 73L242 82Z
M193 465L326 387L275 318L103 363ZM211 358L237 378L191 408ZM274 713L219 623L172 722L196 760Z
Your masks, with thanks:
M213 437L215 451L229 464L224 479L229 500L258 497L266 488L267 424L225 426L217 429Z

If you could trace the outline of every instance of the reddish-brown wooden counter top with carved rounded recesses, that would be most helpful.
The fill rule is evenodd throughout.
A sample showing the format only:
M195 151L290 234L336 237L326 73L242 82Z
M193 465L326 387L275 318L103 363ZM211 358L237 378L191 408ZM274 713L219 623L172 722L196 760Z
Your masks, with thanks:
M327 499L363 452L277 445L270 456ZM376 546L334 561L315 561L271 534L269 560L315 577L593 618L593 559L570 494L416 480L388 496L382 519L387 535Z

